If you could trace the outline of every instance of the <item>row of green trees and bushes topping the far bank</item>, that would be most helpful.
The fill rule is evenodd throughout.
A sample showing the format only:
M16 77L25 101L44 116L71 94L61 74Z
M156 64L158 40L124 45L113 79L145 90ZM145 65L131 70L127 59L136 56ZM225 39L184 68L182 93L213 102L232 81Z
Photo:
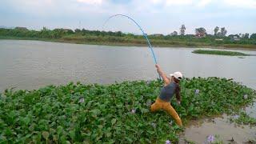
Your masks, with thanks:
M161 39L161 40L186 40L191 38L196 42L210 42L214 38L223 38L226 43L230 43L231 38L241 38L241 42L236 43L247 43L246 39L250 39L250 44L256 44L256 34L230 34L226 37L227 30L225 27L219 28L216 26L214 28L214 34L207 34L206 29L199 27L195 29L195 34L186 34L186 26L182 25L180 28L180 33L174 31L171 34L150 34L148 35L150 39ZM63 37L102 37L102 38L126 38L126 39L142 39L142 35L136 34L125 34L121 31L99 31L99 30L86 30L86 29L54 29L49 30L46 27L43 27L42 30L27 30L25 27L16 27L14 29L0 29L0 36L2 37L18 37L18 38L63 38ZM202 39L202 40L201 40ZM244 39L244 40L242 40ZM234 43L234 42L233 42Z

